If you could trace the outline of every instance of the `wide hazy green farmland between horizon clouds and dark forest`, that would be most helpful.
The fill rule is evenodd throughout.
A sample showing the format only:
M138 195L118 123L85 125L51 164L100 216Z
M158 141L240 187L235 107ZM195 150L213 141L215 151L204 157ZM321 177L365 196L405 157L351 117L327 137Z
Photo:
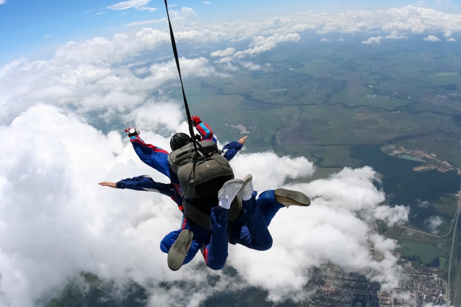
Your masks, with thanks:
M461 163L461 125L452 120L461 113L460 54L300 48L268 54L266 71L185 80L191 112L223 140L242 136L225 124L254 132L248 151L316 156L324 166L357 165L347 153L362 144L403 145ZM300 52L306 56L296 58Z

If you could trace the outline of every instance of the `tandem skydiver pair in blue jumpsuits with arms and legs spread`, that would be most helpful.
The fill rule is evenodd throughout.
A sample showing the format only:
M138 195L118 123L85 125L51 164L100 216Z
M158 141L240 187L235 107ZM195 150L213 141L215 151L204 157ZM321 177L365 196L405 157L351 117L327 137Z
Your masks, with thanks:
M270 249L273 240L267 227L278 210L290 205L308 206L310 200L299 191L283 188L267 190L256 197L252 175L248 174L243 180L234 179L233 173L229 175L227 166L222 170L217 168L218 172L223 173L219 179L215 178L203 183L202 186L192 187L194 197L190 198L190 183L178 178L178 165L174 165L173 161L182 159L183 164L179 167L183 167L187 162L195 165L197 161L201 161L209 168L209 161L214 158L212 155L200 153L200 148L206 147L204 152L213 148L217 154L222 154L225 161L229 161L242 149L246 137L227 144L219 151L216 138L209 126L198 116L192 116L189 120L199 133L194 138L196 140L183 133L173 135L170 140L171 153L145 143L135 128L125 130L140 159L166 175L170 183L155 182L152 177L143 175L118 182L103 181L99 184L120 189L155 191L169 196L177 204L183 217L180 228L168 233L160 242L160 250L168 254L168 267L173 271L178 270L182 265L189 263L200 250L206 265L213 270L220 270L226 263L228 243L241 244L260 251ZM194 142L198 139L198 143L202 145L197 147ZM206 143L210 141L213 144ZM181 150L186 150L188 155L175 159L174 153ZM215 158L216 153L213 153ZM208 168L203 169L208 171ZM181 172L179 173L181 177Z

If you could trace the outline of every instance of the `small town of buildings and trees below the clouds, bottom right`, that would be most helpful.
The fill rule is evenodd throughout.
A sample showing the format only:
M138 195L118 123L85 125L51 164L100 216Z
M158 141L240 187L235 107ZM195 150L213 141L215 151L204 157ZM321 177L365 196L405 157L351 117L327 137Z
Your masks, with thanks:
M370 249L370 254L375 260L382 260L378 251ZM399 287L386 292L380 292L379 284L366 277L344 273L333 264L322 265L320 271L320 277L312 281L312 286L318 290L307 300L307 306L422 307L428 303L446 304L446 281L437 276L436 270L415 268L410 261L403 264Z

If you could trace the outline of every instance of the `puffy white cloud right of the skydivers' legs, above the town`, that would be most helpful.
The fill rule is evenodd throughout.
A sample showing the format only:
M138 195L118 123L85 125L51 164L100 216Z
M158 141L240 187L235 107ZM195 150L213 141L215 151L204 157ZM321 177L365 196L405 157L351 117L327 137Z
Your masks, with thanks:
M255 188L259 191L280 184L276 180L281 174L273 173L280 170L269 168L270 173L266 175L256 169L265 165L258 166L251 161L252 158L267 160L267 164L271 165L275 161L271 161L270 156L264 156L266 154L236 157L236 172L258 173L254 178ZM246 164L241 164L243 161ZM299 168L306 171L299 175L311 173L312 167L306 162L304 158L296 161ZM366 274L386 288L397 286L400 269L392 255L396 247L394 241L373 233L366 223L366 220L372 219L369 212L380 208L379 203L384 200L383 192L372 183L374 176L370 167L345 168L327 179L286 186L309 195L311 206L280 210L270 225L273 247L261 253L232 246L229 263L248 283L268 290L269 298L276 302L302 300L306 295L303 287L309 280L306 272L327 262L335 263L346 271ZM407 218L405 214L401 216ZM293 229L298 229L297 235L294 235ZM369 246L382 252L385 260L379 263L373 261ZM265 269L268 266L271 267L270 272ZM379 274L373 275L372 271ZM277 279L271 278L274 275Z

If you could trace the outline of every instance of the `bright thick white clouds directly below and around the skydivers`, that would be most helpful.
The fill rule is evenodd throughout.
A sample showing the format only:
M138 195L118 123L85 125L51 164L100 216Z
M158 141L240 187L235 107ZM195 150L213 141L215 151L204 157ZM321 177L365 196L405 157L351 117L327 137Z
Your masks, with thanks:
M154 291L160 281L197 281L210 274L200 256L178 273L168 271L159 241L178 227L180 218L169 198L97 185L146 173L167 181L138 160L128 139L122 140L117 132L103 135L78 117L43 104L1 127L1 133L10 136L0 147L4 157L0 161L2 302L32 305L83 271L121 285L134 280L152 291L151 300L156 302L152 304L158 305L169 298L159 298ZM163 147L168 142L152 132L145 132L145 138ZM314 171L303 157L278 157L270 152L241 154L232 165L237 177L252 173L259 191L284 186L287 178ZM326 262L370 274L385 287L396 286L399 269L392 256L393 240L370 232L365 221L373 219L367 215L377 208L393 210L378 207L384 193L373 180L369 167L346 168L328 179L287 186L304 191L312 205L282 209L270 226L273 248L257 252L232 246L228 265L248 285L269 290L269 299L274 301L302 299L308 269ZM405 220L408 212L401 213L400 220ZM388 221L392 214L383 216ZM373 261L369 246L379 249L385 260ZM378 274L371 275L372 271ZM200 290L196 304L229 284L223 277L214 289Z

